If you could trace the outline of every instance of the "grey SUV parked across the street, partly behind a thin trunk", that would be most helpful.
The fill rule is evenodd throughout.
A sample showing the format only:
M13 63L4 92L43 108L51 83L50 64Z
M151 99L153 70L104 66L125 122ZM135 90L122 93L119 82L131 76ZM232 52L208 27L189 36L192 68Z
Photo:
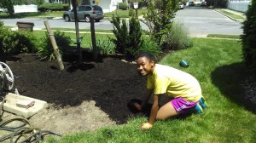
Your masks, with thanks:
M104 18L103 10L97 5L80 5L77 7L78 19L85 20L85 22L90 21L90 17L94 18L96 22L99 22ZM65 21L74 20L73 9L65 11L63 13L63 19Z

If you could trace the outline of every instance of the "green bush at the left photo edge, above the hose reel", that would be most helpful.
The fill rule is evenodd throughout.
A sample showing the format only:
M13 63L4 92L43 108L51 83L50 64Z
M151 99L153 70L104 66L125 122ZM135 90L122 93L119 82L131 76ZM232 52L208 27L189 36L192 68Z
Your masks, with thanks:
M19 54L36 51L38 39L30 31L10 31L0 22L0 53Z

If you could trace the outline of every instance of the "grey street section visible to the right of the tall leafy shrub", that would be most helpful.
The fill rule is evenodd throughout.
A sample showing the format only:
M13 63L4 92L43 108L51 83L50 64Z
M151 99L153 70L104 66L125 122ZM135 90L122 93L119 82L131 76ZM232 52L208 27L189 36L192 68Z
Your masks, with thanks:
M207 34L242 34L241 22L231 20L212 9L186 7L177 11L175 20L183 22L192 37L206 37Z

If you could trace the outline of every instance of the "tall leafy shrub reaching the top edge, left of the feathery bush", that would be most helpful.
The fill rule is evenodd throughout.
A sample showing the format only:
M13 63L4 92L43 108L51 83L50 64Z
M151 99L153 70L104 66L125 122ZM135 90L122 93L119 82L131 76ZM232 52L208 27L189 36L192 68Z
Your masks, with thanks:
M177 0L154 0L154 3L148 3L148 12L143 14L143 22L159 45L162 37L172 28L172 19L177 9Z

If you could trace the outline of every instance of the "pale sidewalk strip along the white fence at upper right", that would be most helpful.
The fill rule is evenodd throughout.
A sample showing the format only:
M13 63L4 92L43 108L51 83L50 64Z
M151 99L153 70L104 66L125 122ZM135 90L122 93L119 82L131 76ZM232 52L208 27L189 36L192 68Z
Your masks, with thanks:
M225 16L229 17L231 20L244 21L247 18L245 13L235 11L232 9L214 9L214 10L220 14L224 14ZM232 16L231 14L234 14L234 15Z

